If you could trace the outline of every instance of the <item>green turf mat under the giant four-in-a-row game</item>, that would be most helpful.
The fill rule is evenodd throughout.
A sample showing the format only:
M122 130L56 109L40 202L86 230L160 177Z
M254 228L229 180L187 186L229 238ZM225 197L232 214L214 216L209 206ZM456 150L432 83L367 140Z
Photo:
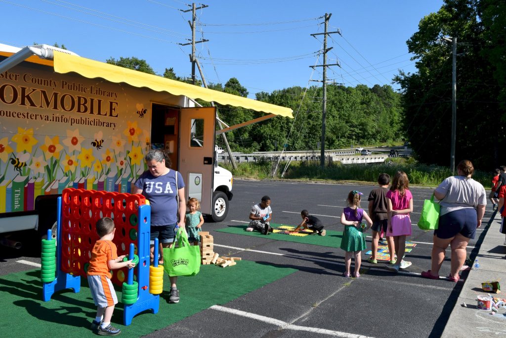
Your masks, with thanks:
M180 277L178 289L181 301L168 304L170 282L163 276L163 293L157 314L137 315L129 326L123 323L123 305L118 303L112 318L113 326L121 329L121 336L139 337L172 325L213 305L224 305L243 294L256 290L296 270L279 268L241 260L237 265L221 268L203 265L193 277ZM0 277L2 316L0 331L10 337L92 336L90 325L97 308L81 278L81 290L59 291L51 301L42 301L40 272L32 270ZM116 295L121 299L120 287ZM168 290L168 291L167 291Z

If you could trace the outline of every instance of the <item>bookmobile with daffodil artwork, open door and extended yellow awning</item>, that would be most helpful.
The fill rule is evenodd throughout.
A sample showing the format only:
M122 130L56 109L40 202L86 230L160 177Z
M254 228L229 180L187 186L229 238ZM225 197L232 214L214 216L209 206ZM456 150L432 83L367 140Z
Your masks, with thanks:
M196 98L269 115L216 130L216 108ZM0 44L0 243L39 243L65 187L130 193L154 147L183 175L186 199L222 221L232 174L216 165L215 136L291 112L47 45Z

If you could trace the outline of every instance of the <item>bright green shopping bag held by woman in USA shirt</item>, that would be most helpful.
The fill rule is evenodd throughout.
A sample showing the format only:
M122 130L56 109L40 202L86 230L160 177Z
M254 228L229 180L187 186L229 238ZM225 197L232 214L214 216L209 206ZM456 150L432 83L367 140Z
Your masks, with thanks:
M188 235L183 228L179 228L174 242L172 248L163 248L163 270L171 277L198 274L200 247L188 243Z

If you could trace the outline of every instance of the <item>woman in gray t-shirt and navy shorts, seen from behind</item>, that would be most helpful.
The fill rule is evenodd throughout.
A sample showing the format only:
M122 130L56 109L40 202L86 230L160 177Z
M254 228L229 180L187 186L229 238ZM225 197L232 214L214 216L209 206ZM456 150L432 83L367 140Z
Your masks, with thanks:
M439 269L450 245L451 272L447 279L452 282L459 280L458 272L467 256L466 247L481 226L487 205L485 188L471 178L473 173L471 161L460 161L458 175L446 178L434 190L434 196L441 205L439 226L434 231L431 270L422 272L422 277L439 279Z

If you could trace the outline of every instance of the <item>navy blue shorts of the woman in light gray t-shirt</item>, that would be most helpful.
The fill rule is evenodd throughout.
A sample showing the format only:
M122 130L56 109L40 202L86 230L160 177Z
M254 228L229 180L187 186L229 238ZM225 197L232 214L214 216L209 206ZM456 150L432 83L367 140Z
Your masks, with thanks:
M434 235L447 239L460 234L474 239L477 226L478 219L474 208L455 210L439 216L439 226L434 230Z

